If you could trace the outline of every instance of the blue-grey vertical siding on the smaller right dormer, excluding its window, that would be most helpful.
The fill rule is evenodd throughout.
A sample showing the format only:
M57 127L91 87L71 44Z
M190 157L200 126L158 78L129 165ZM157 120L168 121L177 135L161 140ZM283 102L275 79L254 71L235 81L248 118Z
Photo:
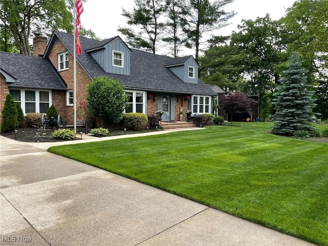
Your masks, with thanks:
M194 68L194 78L188 77L189 67ZM169 69L177 75L183 82L198 84L198 64L194 59L188 59L183 65L172 66Z

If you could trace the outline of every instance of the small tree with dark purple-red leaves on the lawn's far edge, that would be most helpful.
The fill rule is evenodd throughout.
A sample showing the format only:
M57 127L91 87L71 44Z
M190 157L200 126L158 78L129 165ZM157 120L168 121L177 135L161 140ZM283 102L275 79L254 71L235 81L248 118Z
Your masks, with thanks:
M252 105L256 104L256 101L249 97L248 94L243 92L229 92L220 97L220 108L222 108L227 114L232 116L234 114L249 113L252 112Z

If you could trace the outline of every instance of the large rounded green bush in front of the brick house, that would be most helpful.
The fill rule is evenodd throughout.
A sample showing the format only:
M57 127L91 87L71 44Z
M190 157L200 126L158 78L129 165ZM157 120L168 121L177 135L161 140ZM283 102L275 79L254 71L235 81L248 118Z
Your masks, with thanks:
M120 121L124 110L129 107L124 85L109 77L96 77L87 87L88 109L94 117L104 124L111 125Z

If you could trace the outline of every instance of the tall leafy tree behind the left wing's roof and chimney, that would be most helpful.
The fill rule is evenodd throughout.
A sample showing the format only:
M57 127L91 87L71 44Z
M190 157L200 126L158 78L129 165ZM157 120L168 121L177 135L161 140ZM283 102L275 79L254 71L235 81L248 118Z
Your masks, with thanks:
M21 54L31 55L30 33L50 34L59 29L73 32L73 16L67 1L0 0L0 7L0 19Z

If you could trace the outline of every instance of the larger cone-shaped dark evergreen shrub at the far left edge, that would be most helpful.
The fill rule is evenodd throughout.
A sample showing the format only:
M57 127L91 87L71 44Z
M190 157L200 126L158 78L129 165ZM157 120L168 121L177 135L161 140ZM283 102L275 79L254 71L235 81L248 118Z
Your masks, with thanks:
M11 95L7 94L5 105L2 110L1 131L9 132L11 130L14 130L16 127L18 127L17 116L18 116L18 112L15 102L12 99Z

